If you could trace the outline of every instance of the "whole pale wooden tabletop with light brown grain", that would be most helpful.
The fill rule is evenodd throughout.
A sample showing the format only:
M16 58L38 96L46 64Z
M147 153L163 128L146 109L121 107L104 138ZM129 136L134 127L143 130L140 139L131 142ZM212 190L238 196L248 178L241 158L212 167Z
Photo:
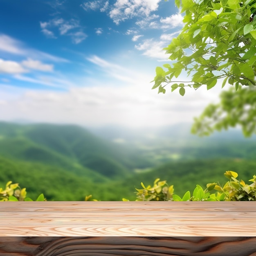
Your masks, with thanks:
M256 202L0 202L0 236L256 237Z

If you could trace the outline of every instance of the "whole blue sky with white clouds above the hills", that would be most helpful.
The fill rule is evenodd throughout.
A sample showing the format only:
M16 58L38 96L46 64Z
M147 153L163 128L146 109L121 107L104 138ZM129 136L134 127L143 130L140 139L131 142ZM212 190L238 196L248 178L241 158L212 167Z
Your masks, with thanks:
M0 120L149 127L192 122L219 88L157 94L174 1L1 0Z

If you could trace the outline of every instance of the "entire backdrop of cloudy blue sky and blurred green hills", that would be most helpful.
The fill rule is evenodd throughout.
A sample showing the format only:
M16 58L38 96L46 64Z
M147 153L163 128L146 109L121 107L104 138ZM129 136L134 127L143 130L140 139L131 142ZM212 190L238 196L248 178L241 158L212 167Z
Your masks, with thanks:
M115 201L156 178L178 194L223 184L228 170L252 178L256 137L191 135L221 85L184 97L151 90L182 19L174 1L2 0L0 187Z

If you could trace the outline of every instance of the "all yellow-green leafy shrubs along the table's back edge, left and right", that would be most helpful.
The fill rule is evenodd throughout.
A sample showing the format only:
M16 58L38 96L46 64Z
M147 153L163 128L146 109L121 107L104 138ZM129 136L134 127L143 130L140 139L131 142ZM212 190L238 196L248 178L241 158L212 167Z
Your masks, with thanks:
M238 174L234 171L226 171L225 177L229 179L224 186L208 183L206 189L196 185L193 194L190 191L180 197L174 193L173 185L168 186L166 180L157 178L153 186L147 187L141 182L142 189L136 189L137 199L135 201L256 201L256 175L249 180L252 184L245 184L243 180L237 180ZM216 193L210 191L216 190ZM0 201L33 201L28 198L26 189L21 189L18 183L7 182L5 189L0 188ZM46 201L40 194L36 201ZM85 196L85 201L98 201L92 199L92 195ZM123 198L123 201L129 201Z

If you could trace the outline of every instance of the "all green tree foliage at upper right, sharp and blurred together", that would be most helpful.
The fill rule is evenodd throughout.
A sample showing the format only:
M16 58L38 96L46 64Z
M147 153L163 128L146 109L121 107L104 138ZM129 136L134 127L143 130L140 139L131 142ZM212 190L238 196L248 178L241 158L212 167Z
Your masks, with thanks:
M165 48L171 64L156 68L153 89L171 85L184 96L187 87L207 90L216 83L234 85L195 119L192 131L209 135L240 124L246 136L256 132L256 0L175 0L184 27ZM188 80L177 81L180 74Z

